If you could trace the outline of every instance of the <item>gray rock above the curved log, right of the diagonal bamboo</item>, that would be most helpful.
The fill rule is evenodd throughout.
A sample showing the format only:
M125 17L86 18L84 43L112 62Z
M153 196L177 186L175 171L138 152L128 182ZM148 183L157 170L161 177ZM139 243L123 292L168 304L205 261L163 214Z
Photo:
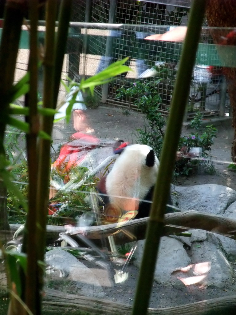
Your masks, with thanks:
M236 201L235 190L216 184L175 186L175 192L173 203L177 201L179 208L185 211L196 210L222 215Z

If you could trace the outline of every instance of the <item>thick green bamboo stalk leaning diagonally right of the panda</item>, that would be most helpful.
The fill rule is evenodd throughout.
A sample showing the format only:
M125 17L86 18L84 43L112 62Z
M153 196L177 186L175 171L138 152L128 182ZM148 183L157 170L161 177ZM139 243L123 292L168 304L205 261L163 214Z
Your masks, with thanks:
M148 224L143 259L132 315L147 313L152 290L153 276L160 237L164 226L165 205L175 163L175 154L181 133L185 104L188 100L191 75L204 19L206 0L193 0L190 10L188 31L181 54L179 70L167 123L166 135L160 159L160 168L154 190L154 198ZM163 180L165 179L165 180ZM144 290L143 290L144 288Z

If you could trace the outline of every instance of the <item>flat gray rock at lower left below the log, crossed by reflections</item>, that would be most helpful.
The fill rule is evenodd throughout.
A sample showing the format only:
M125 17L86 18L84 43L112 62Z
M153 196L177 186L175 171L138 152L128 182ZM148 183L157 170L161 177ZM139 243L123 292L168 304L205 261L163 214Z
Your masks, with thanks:
M63 249L53 249L45 254L45 262L50 265L47 270L47 281L50 287L67 293L77 293L91 297L104 297L105 293L95 274ZM98 278L101 269L94 269ZM105 272L102 270L102 272ZM105 281L105 280L104 280ZM104 285L104 284L103 284ZM109 284L109 280L107 282Z

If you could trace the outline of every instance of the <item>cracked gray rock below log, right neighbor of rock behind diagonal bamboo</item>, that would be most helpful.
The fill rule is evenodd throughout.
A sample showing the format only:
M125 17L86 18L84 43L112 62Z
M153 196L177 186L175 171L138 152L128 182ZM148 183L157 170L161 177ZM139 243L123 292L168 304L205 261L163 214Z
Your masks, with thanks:
M220 242L213 233L206 233L207 240L204 242L193 242L189 251L192 264L205 263L209 271L200 275L205 278L200 284L213 285L219 288L225 286L225 282L232 282L233 270L222 252Z

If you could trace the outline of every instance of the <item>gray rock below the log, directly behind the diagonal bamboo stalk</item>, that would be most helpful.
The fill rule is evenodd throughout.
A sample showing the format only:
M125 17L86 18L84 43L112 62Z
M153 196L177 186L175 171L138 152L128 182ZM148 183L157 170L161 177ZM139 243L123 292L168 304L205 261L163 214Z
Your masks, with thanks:
M140 266L143 256L144 240L138 241L135 252L135 266ZM181 285L180 281L173 276L176 269L188 266L191 260L183 248L183 243L172 237L164 236L161 238L158 253L158 261L155 267L154 279L160 284Z

